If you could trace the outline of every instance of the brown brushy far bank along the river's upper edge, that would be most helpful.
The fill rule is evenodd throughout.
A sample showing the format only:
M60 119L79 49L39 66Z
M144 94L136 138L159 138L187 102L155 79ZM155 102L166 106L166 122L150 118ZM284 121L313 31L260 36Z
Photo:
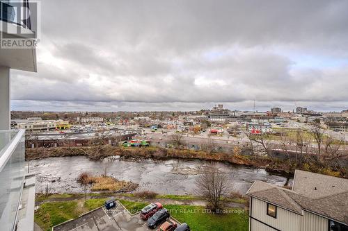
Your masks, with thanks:
M57 147L57 148L26 148L26 160L38 160L47 157L65 157L84 155L92 160L102 160L105 157L117 155L124 160L141 161L143 159L195 159L213 160L228 162L244 166L266 169L273 173L292 176L294 164L288 161L278 160L270 157L254 157L246 155L231 155L226 153L206 153L204 151L193 151L187 149L173 148L136 148L136 147L115 147L104 146L83 146L83 147Z

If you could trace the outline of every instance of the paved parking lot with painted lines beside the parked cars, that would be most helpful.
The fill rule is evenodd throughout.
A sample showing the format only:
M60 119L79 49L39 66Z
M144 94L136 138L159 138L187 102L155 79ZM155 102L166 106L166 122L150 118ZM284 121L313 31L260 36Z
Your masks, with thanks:
M112 209L101 207L78 219L56 225L54 231L145 231L150 230L139 214L131 215L119 203Z

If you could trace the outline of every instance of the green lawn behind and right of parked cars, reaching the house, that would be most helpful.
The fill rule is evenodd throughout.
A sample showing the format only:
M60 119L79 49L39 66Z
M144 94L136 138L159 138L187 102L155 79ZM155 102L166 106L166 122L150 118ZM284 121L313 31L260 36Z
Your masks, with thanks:
M127 209L143 208L145 203L120 200ZM178 221L189 224L195 231L247 231L248 212L243 209L227 209L226 214L212 214L202 206L164 205Z

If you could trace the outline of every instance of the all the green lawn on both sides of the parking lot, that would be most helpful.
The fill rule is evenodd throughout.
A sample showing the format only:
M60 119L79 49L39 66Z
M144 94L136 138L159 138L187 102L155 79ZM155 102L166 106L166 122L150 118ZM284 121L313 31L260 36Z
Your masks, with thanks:
M63 196L64 197L64 196ZM50 230L70 219L104 205L106 198L71 200L63 202L42 203L35 212L35 222L42 230ZM120 200L129 212L139 212L147 203ZM248 212L243 209L228 209L226 214L212 214L204 207L191 205L164 205L171 215L180 222L186 222L194 231L246 231L248 230Z

